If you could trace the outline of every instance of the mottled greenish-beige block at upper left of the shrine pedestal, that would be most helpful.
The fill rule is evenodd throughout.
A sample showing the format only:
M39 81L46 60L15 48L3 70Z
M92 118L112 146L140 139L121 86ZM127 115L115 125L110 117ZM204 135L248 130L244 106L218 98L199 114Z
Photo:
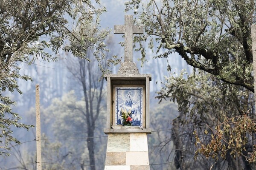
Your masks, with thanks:
M129 133L110 133L108 135L107 152L125 152L130 150Z

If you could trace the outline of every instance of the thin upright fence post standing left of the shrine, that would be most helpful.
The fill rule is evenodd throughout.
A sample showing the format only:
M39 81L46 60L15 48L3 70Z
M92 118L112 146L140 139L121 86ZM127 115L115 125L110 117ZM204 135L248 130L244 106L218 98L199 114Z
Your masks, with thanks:
M35 113L36 113L36 163L37 170L42 170L41 160L41 122L40 122L40 95L39 85L35 85Z

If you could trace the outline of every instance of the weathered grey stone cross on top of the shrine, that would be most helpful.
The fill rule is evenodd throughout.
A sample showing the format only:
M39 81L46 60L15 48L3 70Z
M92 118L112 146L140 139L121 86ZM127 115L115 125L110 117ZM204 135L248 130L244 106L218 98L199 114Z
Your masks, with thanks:
M125 62L132 62L133 34L143 34L143 26L134 26L132 15L125 15L125 25L114 26L114 34L125 34Z

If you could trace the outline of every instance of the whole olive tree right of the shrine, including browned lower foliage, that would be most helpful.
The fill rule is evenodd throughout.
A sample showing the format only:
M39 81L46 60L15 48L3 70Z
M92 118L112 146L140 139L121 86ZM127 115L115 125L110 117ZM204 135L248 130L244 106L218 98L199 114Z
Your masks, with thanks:
M171 54L177 54L194 68L191 76L167 78L158 93L159 99L169 98L179 105L180 116L173 126L190 127L173 132L176 168L255 168L251 164L256 160L251 42L255 4L255 0L125 3L126 11L134 10L145 27L146 34L134 40L142 62L148 44L152 50L157 48L154 58L171 60ZM170 66L167 69L171 71ZM201 161L191 164L187 158L194 153L215 160L198 156Z

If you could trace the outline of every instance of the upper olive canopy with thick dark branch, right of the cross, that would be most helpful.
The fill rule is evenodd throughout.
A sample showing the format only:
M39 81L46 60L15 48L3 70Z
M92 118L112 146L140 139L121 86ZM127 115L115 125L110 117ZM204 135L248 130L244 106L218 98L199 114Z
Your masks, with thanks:
M125 6L126 11L136 11L145 28L146 34L134 42L152 50L153 38L155 58L177 52L188 65L254 91L250 26L255 23L255 1L129 0ZM144 47L139 48L142 62Z

